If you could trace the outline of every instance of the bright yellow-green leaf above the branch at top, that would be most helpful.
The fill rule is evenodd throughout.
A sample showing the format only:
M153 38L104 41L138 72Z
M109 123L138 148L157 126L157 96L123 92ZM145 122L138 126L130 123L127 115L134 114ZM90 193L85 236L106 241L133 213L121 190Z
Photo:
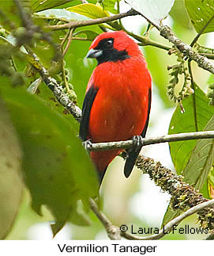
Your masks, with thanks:
M73 13L79 13L81 15L90 17L92 19L109 16L109 13L104 11L100 6L96 6L92 3L69 7L66 10L69 10L70 12L73 12Z

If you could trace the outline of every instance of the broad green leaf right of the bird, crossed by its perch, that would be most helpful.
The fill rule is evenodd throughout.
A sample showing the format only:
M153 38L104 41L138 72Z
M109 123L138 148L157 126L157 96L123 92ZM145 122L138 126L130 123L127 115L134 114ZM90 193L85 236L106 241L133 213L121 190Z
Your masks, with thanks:
M203 131L214 114L214 107L208 106L205 93L196 87L195 93L183 100L182 105L186 112L181 113L179 106L175 109L168 133ZM170 143L171 159L178 175L185 169L196 143L196 140Z

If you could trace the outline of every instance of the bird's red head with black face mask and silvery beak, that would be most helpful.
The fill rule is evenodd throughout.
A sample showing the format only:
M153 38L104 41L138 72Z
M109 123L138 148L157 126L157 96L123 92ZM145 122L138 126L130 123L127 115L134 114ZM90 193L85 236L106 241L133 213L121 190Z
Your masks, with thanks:
M97 59L98 64L117 62L141 55L138 45L123 31L103 32L93 40L86 57Z

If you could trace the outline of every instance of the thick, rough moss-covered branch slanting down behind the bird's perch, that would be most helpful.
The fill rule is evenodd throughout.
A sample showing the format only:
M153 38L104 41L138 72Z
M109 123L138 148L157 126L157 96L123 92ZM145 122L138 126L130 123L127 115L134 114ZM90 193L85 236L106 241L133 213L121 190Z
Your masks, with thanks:
M208 201L191 185L182 181L181 176L176 176L175 173L154 159L139 155L136 166L143 174L148 174L149 178L156 185L159 185L164 192L171 195L171 207L174 210L185 211L186 208L192 208L197 204ZM214 208L206 208L197 212L197 214L202 227L207 227L210 231L214 230Z

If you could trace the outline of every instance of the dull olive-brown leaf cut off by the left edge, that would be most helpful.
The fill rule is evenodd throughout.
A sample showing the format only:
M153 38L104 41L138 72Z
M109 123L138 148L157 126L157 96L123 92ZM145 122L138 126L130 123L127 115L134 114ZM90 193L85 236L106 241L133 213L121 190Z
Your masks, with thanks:
M0 239L6 238L22 198L21 147L0 97Z

